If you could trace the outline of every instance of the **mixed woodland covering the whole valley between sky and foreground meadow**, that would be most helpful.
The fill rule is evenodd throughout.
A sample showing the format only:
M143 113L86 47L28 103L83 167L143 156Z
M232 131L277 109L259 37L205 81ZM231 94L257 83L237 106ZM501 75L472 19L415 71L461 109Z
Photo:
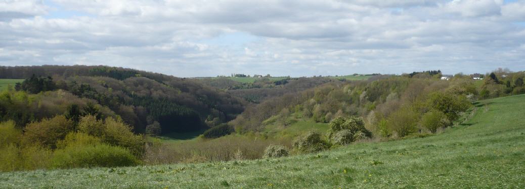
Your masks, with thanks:
M524 72L441 75L239 83L109 66L2 66L0 78L23 81L0 92L0 170L276 158L425 137L469 119L480 99L525 93ZM199 136L166 140L190 132Z

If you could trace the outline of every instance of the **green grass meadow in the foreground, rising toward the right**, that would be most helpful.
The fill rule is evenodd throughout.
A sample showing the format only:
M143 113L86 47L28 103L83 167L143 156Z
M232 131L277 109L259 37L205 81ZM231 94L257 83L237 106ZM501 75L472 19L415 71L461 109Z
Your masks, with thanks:
M479 104L464 125L426 138L269 160L8 172L0 187L525 188L525 95Z

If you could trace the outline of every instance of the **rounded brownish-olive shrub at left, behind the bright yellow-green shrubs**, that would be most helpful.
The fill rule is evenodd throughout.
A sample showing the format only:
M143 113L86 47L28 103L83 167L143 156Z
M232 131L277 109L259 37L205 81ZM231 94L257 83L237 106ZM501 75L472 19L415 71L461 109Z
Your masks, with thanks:
M73 130L73 123L65 116L56 116L51 119L43 119L40 122L31 123L24 130L24 136L22 137L24 146L37 144L53 149L56 147L58 140L64 139Z

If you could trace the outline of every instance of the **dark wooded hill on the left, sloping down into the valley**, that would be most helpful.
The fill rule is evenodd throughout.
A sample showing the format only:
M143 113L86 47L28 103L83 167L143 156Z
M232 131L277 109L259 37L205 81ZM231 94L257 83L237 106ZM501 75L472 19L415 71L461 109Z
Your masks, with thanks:
M29 96L45 96L55 100L64 99L49 97L60 91L72 94L70 96L75 99L85 98L79 100L82 102L87 101L86 99L95 101L100 107L107 107L113 112L108 114L119 115L135 132L140 133L144 133L146 127L155 122L160 123L162 134L198 131L232 120L244 110L243 101L217 88L184 78L133 69L83 65L0 66L0 77L10 78L0 80L0 89L4 87L4 83L22 82L24 79L34 81L27 84L28 88L39 88L39 79L45 78L52 83L50 90L23 91L34 93ZM40 92L44 93L38 94ZM10 101L3 103L9 104L8 102ZM16 113L20 108L12 103L10 106L4 105L7 108L0 109L9 112L9 115L26 114L26 117L33 118L18 121L17 124L22 126L30 121L50 117L39 114L64 113L66 107L80 104L70 102L72 99L54 108L54 112L49 109L36 110L31 106L29 109L34 112ZM83 104L86 103L80 104L81 108ZM23 116L2 115L0 121L14 119L13 117Z

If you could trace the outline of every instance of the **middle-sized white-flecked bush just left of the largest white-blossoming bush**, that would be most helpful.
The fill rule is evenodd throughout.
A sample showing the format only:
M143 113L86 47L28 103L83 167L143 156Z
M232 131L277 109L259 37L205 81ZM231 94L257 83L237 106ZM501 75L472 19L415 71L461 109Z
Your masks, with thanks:
M302 153L318 152L330 148L328 142L321 139L321 135L316 132L308 132L304 136L299 136L293 141L292 146L295 150Z

